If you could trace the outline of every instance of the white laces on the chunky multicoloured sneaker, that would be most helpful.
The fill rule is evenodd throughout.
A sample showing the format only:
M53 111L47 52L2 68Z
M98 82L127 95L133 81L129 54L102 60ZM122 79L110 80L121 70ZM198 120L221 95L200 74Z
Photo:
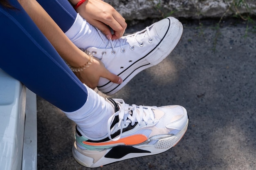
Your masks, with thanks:
M127 124L131 124L131 126L133 126L135 122L138 122L139 125L141 125L142 122L145 122L147 125L150 120L154 123L155 115L153 110L155 109L153 107L136 106L135 104L129 106L123 99L115 99L115 102L119 106L119 111L108 119L108 137L112 141L117 141L121 138L123 126L126 126ZM118 128L120 128L120 135L117 138L112 139L110 126L117 115L119 117Z

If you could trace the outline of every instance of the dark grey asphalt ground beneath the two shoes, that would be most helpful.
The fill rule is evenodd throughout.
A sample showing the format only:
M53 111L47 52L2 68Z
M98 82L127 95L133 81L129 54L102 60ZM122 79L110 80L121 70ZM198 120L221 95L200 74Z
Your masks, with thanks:
M224 22L225 21L225 22ZM133 33L150 21L130 26ZM256 33L238 20L183 21L174 51L111 96L184 106L189 127L170 150L95 170L256 170ZM75 124L37 97L38 170L87 170L72 157Z

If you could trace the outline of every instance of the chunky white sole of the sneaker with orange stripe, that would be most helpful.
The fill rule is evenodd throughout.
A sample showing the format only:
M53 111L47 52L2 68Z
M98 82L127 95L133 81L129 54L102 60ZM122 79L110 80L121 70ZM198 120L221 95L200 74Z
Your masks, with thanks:
M189 124L189 119L187 120L186 126L177 133L174 136L159 139L155 144L149 145L149 144L141 144L138 146L130 146L132 148L138 149L138 150L144 150L147 151L146 153L129 153L121 158L110 158L106 157L106 155L110 152L110 150L114 149L106 149L102 151L97 150L83 150L76 146L76 142L74 142L73 148L72 148L72 154L74 159L81 164L82 166L88 167L88 168L97 168L106 164L114 163L117 161L123 161L125 159L131 159L135 157L143 157L148 155L156 155L162 152L165 152L169 149L171 149L173 146L175 146L180 139L184 136ZM118 147L118 146L117 146ZM129 146L128 146L129 147ZM120 152L123 152L123 150L117 150L116 155L120 155Z

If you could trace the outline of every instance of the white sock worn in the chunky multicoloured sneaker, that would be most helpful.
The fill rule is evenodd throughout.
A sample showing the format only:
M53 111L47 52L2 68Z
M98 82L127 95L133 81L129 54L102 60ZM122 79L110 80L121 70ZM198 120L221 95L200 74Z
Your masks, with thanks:
M108 133L108 119L115 113L114 108L91 88L86 88L88 97L85 104L74 112L64 113L88 137L103 137Z

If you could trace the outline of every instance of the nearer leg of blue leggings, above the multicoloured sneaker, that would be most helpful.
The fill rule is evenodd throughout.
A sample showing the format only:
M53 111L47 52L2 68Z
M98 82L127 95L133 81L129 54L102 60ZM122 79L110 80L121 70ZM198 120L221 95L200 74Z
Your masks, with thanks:
M17 0L9 2L17 10L0 5L0 68L63 111L81 108L87 99L86 87Z

